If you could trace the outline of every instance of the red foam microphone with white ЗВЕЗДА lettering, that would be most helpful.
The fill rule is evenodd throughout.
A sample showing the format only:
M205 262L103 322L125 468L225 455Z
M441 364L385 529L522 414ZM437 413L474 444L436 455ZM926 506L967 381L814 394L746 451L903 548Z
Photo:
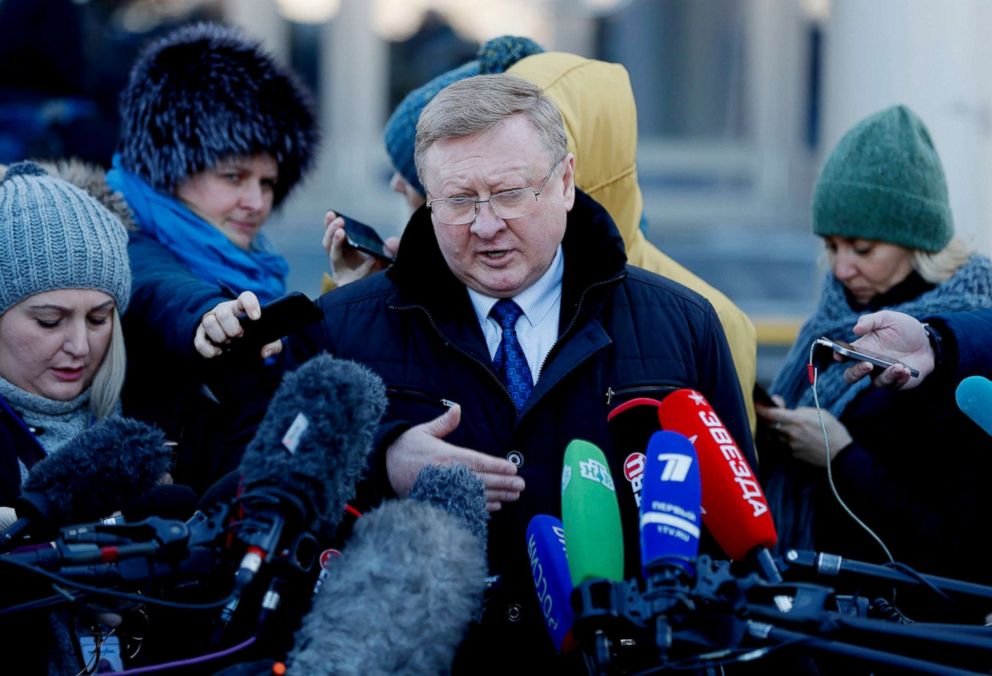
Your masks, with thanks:
M662 428L693 443L702 479L703 523L731 559L754 556L761 574L781 582L771 548L778 541L768 501L730 432L702 394L676 390L658 407Z

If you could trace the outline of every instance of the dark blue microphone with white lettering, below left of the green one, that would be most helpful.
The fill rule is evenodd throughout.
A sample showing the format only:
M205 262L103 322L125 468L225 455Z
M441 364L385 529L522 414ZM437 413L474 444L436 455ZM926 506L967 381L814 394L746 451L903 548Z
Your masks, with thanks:
M569 602L572 579L565 554L565 529L560 519L547 514L531 518L527 524L527 555L537 603L555 650L559 654L571 652L576 646L572 636L574 615Z

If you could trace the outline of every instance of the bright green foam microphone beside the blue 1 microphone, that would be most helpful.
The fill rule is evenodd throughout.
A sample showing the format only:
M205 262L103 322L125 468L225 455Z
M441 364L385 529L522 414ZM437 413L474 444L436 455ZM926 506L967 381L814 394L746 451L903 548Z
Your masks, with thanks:
M623 580L623 527L616 486L606 456L588 441L565 448L561 470L561 520L572 584Z

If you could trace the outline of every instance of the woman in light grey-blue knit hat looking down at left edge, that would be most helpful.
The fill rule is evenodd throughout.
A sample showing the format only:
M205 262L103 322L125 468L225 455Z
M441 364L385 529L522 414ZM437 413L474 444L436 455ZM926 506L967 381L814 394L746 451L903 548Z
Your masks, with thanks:
M120 219L38 165L12 165L0 180L0 505L119 408L130 293Z

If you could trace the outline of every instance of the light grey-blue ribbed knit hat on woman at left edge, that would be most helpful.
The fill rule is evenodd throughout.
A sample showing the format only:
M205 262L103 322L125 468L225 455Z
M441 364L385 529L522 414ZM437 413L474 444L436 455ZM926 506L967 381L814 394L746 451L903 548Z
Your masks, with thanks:
M127 231L85 191L18 162L0 181L0 314L56 289L103 291L123 313L131 296Z

